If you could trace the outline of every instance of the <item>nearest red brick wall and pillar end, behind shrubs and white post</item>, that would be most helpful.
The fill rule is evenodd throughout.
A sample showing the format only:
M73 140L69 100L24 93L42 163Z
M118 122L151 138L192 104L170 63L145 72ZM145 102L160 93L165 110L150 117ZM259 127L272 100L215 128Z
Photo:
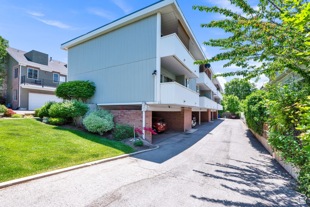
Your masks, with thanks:
M134 126L142 130L143 128L143 112L142 111L121 111L110 110L114 115L113 122L115 124L127 124ZM152 128L152 111L145 111L145 127ZM152 134L149 131L145 131L145 140L152 143Z

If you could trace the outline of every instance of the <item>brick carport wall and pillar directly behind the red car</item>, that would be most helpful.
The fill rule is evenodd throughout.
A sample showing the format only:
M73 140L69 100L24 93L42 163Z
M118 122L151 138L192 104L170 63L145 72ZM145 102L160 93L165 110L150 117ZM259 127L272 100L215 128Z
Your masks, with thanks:
M153 111L153 117L164 118L168 130L172 131L187 131L192 129L192 110L183 108L178 112L161 112L161 111Z

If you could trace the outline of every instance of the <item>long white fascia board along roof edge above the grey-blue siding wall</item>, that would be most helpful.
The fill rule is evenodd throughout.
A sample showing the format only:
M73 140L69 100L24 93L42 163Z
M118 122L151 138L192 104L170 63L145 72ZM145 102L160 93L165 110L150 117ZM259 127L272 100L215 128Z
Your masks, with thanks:
M146 7L142 10L138 10L132 14L129 14L125 17L122 17L121 19L118 19L118 20L115 20L109 24L106 24L105 26L101 27L101 28L98 28L98 29L95 29L89 33L86 33L80 37L77 37L73 40L70 40L69 42L66 42L64 44L62 44L60 46L60 49L63 49L63 50L68 50L68 48L72 45L75 45L75 44L78 44L80 42L83 42L83 40L86 40L86 39L91 39L93 37L96 37L96 36L99 36L101 34L104 33L104 31L108 30L108 29L113 29L113 27L116 27L118 26L119 24L124 24L126 23L127 21L131 21L135 18L138 18L139 16L143 16L143 15L146 15L148 13L151 13L151 12L154 12L158 9L160 9L161 7L164 7L164 6L167 6L171 3L174 3L175 1L174 0L165 0L165 1L162 1L162 2L158 2L152 6L149 6L149 7Z

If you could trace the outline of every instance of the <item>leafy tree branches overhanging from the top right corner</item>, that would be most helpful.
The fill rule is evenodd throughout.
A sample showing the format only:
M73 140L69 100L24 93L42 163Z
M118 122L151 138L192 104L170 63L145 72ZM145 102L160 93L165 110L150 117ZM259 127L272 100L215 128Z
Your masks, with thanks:
M220 28L232 36L210 39L204 45L222 47L223 52L195 64L228 60L243 70L215 75L241 75L247 80L261 74L275 79L276 72L289 68L309 80L310 72L310 2L307 0L259 0L257 9L244 0L229 0L242 9L243 14L221 7L193 6L199 11L224 14L228 19L201 24L205 28ZM249 64L259 63L258 66ZM305 67L301 67L305 66Z

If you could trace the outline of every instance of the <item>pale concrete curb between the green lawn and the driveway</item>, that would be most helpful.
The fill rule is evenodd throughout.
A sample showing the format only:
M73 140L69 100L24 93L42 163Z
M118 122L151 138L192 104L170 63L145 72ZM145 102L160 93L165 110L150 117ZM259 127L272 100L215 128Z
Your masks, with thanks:
M25 182L30 181L30 180L36 180L36 179L39 179L39 178L45 178L45 177L48 177L48 176L51 176L51 175L55 175L55 174L58 174L58 173L64 173L64 172L68 172L68 171L71 171L71 170L76 170L76 169L88 167L88 166L91 166L91 165L97 165L97 164L104 163L104 162L118 160L118 159L121 159L121 158L125 158L125 157L129 157L129 156L132 156L132 155L139 154L141 152L147 152L147 151L151 151L151 150L154 150L154 149L158 149L159 146L158 145L156 145L156 146L157 147L153 148L153 149L146 149L146 150L142 150L142 151L139 151L139 152L132 152L132 153L129 153L129 154L119 155L119 156L115 156L115 157L109 157L109 158L106 158L106 159L92 161L92 162L88 162L88 163L81 164L81 165L75 165L75 166L66 167L66 168L59 169L59 170L53 170L53 171L46 172L46 173L40 173L40 174L31 175L31 176L24 177L24 178L18 178L18 179L15 179L15 180L6 181L6 182L3 182L3 183L0 183L0 188L9 187L9 186L17 185L17 184L20 184L20 183L25 183Z

